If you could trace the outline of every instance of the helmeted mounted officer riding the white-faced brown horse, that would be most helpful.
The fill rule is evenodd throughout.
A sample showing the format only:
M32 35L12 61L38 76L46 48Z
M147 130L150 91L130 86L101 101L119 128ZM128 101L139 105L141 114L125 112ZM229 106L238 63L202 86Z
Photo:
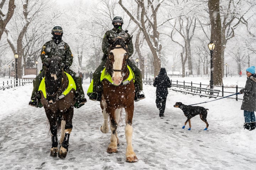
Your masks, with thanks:
M113 18L112 20L112 24L114 26L113 29L108 30L102 40L102 51L104 53L103 57L102 57L102 62L100 63L100 65L98 66L98 68L95 70L94 74L93 74L93 92L92 93L87 93L87 95L89 96L89 99L91 100L97 100L100 101L101 100L101 94L102 94L102 90L101 90L101 81L100 81L100 77L101 77L101 72L105 67L106 61L107 61L107 55L108 55L108 48L110 46L110 42L111 40L113 40L114 38L116 38L117 36L120 36L126 40L130 39L130 34L128 33L128 30L123 30L122 26L123 26L123 18L120 16L116 16ZM127 43L127 49L128 49L128 56L132 56L133 54L133 43L132 43L132 39L130 39L130 41ZM143 98L145 98L144 94L140 94L140 91L142 91L142 74L140 72L140 70L129 60L127 60L127 64L130 66L130 68L132 68L134 75L135 75L135 82L134 82L134 86L135 86L135 101L139 101Z

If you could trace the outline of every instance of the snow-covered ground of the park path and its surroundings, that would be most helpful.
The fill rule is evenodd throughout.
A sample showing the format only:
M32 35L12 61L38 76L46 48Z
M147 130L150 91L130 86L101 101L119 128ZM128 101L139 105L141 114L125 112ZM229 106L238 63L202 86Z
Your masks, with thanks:
M172 78L208 84L209 78ZM6 79L5 79L6 80ZM5 81L0 79L0 82ZM244 87L246 77L228 77L224 85ZM84 90L89 80L84 80ZM208 108L209 128L199 116L182 129L186 117L175 102L194 104L210 101L207 97L185 95L169 90L164 119L155 104L155 87L144 85L146 98L135 102L133 147L139 162L127 163L124 118L118 127L118 153L106 152L110 132L102 134L100 103L88 100L75 109L69 151L65 159L49 156L51 138L43 108L28 106L32 84L0 91L0 169L1 170L184 170L250 169L256 166L256 130L243 129L241 100L223 98L199 104ZM241 96L240 96L241 97ZM88 97L86 97L88 99Z

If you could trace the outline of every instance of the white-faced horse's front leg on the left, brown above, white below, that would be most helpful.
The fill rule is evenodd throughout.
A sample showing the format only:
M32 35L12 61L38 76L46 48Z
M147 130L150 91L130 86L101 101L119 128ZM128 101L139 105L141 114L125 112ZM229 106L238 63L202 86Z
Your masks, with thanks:
M111 129L111 138L110 144L108 145L107 152L108 153L116 153L117 151L117 138L116 138L116 130L117 130L117 122L115 118L115 109L108 107L108 111L110 111L110 129Z

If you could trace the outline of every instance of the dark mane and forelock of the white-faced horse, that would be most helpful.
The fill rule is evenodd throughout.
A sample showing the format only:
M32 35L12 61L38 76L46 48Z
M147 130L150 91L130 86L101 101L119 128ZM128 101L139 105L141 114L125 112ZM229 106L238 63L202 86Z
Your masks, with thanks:
M121 38L121 37L116 37L113 39L110 47L108 48L108 56L107 56L107 61L106 61L106 64L105 64L105 73L106 74L112 74L112 64L111 64L111 55L113 55L112 53L110 53L111 50L114 49L114 47L116 47L117 45L120 45L124 50L128 51L127 49L127 45L126 45L126 41L124 40L124 38Z

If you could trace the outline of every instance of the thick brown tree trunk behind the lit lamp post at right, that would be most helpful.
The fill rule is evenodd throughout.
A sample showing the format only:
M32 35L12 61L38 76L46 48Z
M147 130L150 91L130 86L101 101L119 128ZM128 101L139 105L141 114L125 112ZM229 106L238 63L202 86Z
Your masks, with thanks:
M213 85L222 85L222 26L219 12L219 0L208 1L211 37L210 40L215 43L213 52ZM221 66L221 67L220 67Z

